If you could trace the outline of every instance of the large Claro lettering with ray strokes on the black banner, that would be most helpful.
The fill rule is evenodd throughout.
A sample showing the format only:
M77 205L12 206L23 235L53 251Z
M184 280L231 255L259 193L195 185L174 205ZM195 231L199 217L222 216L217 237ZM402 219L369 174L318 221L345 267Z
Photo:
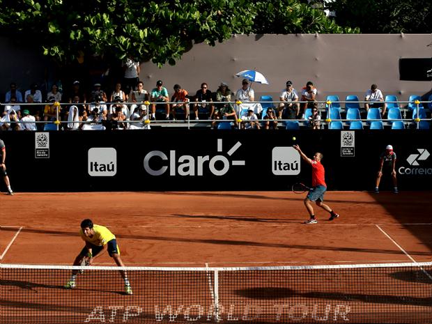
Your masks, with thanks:
M242 144L238 141L226 152L231 157ZM222 152L222 139L217 139L217 152ZM148 152L144 157L144 169L151 176L162 176L169 170L169 176L203 176L206 169L215 176L224 176L231 165L245 165L245 160L229 160L225 155L180 155L174 150L168 155L162 151Z

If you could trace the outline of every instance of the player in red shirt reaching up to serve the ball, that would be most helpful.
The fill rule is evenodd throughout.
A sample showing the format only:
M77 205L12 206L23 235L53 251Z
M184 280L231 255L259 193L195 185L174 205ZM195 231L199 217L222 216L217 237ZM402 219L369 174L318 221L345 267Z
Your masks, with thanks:
M328 220L333 220L337 217L339 217L339 214L334 213L332 208L330 208L328 205L323 203L324 201L324 194L327 190L327 185L325 184L325 171L323 164L321 164L321 160L323 159L323 154L317 152L314 155L313 159L309 159L302 150L300 150L300 146L293 145L293 148L300 153L300 156L304 161L306 161L308 164L312 167L312 187L311 190L309 190L309 193L307 194L306 198L304 198L304 206L306 206L306 209L310 215L310 218L304 222L305 224L316 224L318 221L315 218L314 214L314 208L312 207L311 201L315 201L316 206L323 208L323 210L326 210L328 213L330 213L330 218Z

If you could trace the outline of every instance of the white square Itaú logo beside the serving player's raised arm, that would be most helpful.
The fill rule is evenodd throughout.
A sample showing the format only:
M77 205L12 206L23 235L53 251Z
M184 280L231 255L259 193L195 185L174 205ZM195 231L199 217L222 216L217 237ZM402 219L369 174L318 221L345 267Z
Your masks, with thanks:
M299 174L300 153L289 146L273 148L272 171L275 176L295 176Z

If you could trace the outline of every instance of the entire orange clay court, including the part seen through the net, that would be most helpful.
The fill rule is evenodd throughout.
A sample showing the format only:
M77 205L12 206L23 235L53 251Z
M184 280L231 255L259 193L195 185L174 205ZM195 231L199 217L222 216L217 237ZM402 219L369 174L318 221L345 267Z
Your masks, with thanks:
M430 192L327 192L340 217L317 224L304 195L1 195L2 321L428 323ZM116 235L133 295L106 252L63 288L84 218Z

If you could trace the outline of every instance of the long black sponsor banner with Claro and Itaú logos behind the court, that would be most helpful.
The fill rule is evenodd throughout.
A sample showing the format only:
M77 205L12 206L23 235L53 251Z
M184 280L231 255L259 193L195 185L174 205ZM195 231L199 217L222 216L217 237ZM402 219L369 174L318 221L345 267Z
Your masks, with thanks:
M372 190L388 144L397 155L401 190L430 190L432 180L429 130L164 128L1 132L0 139L16 192L290 190L311 181L311 167L293 144L308 157L323 153L329 190ZM41 147L42 156L36 154ZM383 189L390 178L383 176Z

